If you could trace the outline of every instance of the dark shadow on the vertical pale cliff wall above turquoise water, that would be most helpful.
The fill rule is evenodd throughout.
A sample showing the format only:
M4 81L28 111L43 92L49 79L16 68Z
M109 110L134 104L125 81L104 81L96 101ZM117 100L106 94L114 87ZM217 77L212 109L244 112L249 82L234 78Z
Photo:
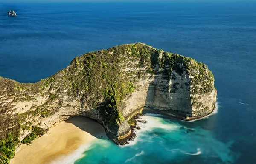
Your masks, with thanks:
M185 119L187 115L192 114L191 110L189 111L190 85L186 81L189 76L179 67L173 68L171 73L168 72L167 66L166 70L160 71L160 64L155 62L156 56L156 52L151 54L151 65L155 65L154 79L149 83L142 113Z

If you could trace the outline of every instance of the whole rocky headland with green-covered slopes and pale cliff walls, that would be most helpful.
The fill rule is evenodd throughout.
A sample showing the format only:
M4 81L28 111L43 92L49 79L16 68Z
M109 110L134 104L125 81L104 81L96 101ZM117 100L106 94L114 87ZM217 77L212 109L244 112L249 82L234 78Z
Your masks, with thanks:
M0 77L0 159L12 158L35 127L87 116L118 143L131 131L127 120L142 107L193 119L212 112L216 94L206 65L142 43L89 52L34 84Z

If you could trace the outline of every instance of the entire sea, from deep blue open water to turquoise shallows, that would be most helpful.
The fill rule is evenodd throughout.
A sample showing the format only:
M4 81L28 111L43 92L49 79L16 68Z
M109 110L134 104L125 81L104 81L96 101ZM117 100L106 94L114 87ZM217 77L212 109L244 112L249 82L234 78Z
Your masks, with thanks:
M75 164L255 164L256 1L0 2L0 76L19 82L134 42L207 64L218 111L194 122L146 115L130 145L97 139Z

